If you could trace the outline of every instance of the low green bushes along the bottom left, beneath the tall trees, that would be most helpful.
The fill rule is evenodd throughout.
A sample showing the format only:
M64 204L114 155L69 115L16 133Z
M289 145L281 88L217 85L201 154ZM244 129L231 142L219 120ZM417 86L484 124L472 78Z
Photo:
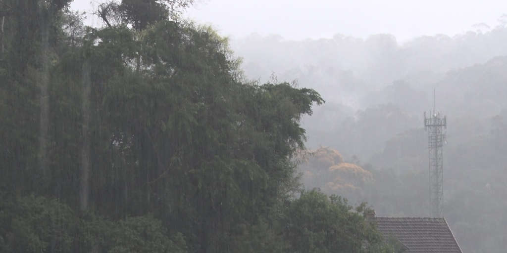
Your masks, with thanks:
M150 215L119 221L79 217L57 199L33 195L1 204L2 252L187 252L183 235L169 236Z

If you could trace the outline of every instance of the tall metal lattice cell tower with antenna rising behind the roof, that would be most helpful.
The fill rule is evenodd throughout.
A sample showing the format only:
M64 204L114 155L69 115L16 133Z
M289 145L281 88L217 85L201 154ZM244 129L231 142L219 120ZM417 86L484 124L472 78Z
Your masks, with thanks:
M431 113L431 111L430 111ZM442 146L445 142L447 116L435 111L435 90L433 89L433 113L426 117L424 112L424 129L428 131L429 157L429 215L442 217L442 195L444 193L444 168Z

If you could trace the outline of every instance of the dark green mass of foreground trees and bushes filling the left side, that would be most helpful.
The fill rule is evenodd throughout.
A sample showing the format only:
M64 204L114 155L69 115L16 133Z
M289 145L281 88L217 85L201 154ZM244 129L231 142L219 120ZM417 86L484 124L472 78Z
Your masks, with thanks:
M247 82L192 0L69 2L0 1L1 252L393 252L300 188L319 93Z

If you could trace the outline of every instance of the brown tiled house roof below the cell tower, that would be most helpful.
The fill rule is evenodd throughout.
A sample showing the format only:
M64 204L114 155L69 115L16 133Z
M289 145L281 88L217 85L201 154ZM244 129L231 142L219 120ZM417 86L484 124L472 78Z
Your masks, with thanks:
M407 253L462 253L443 218L375 217L384 237L394 237L408 248Z

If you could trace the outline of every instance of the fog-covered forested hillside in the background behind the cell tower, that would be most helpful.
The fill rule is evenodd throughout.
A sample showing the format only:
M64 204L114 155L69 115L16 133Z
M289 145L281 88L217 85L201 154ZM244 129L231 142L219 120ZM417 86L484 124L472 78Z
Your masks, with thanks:
M303 41L253 34L231 44L248 78L275 72L324 94L327 103L302 121L316 153L300 166L302 181L352 203L367 201L380 216L428 215L423 112L432 109L435 88L437 110L448 118L444 217L468 253L507 247L506 43L501 24L404 44L388 34ZM322 150L339 152L344 164L366 173L347 165L357 174L339 174L337 164L317 162L327 159Z

